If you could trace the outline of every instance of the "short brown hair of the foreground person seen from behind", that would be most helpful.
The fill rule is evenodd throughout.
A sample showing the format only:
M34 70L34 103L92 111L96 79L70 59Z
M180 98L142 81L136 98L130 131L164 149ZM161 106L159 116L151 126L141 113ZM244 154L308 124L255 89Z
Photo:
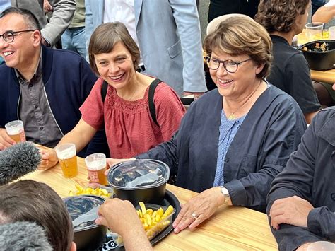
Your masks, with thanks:
M70 250L74 232L63 200L42 182L19 180L0 186L0 224L16 221L42 226L56 251Z

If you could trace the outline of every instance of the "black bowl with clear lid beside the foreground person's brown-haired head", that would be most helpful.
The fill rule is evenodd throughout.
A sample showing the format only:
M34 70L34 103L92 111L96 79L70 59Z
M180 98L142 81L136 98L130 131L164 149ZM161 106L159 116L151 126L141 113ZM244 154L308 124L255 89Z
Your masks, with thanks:
M102 197L94 195L85 195L85 196L71 196L63 199L66 205L66 208L69 211L69 214L72 218L72 222L78 218L79 214L85 214L90 209L97 208L100 204L105 202ZM85 202L85 203L83 203ZM86 203L88 202L88 203ZM78 215L73 213L73 209L81 209ZM76 212L78 212L76 210ZM89 222L88 226L76 227L74 226L74 243L76 243L77 250L95 250L102 243L106 241L107 228L105 226L100 226L94 223L94 220Z

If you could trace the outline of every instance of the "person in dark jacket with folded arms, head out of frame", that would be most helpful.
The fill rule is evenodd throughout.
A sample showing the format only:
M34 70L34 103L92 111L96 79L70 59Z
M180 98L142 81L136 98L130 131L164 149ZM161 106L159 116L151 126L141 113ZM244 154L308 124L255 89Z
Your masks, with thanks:
M335 86L334 86L335 87ZM335 107L322 110L272 182L267 213L279 250L335 242Z

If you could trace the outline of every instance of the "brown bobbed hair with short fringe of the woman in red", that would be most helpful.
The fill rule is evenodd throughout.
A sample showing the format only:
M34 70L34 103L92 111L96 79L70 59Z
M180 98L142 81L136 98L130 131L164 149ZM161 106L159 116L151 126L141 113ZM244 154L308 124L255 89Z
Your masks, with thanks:
M134 57L134 69L137 69L141 54L139 47L129 34L126 26L120 22L104 23L94 30L90 37L90 45L88 46L90 67L95 74L99 73L94 56L100 53L112 52L112 49L117 42L121 42L122 45L128 49L131 56Z

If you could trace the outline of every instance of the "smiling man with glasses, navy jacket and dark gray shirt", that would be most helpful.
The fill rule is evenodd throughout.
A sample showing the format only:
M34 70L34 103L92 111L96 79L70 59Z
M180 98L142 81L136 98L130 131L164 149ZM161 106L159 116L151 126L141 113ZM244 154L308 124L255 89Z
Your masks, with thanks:
M95 74L78 54L41 45L37 19L19 8L0 17L0 54L0 150L15 144L4 125L16 119L28 141L56 146L81 118Z

